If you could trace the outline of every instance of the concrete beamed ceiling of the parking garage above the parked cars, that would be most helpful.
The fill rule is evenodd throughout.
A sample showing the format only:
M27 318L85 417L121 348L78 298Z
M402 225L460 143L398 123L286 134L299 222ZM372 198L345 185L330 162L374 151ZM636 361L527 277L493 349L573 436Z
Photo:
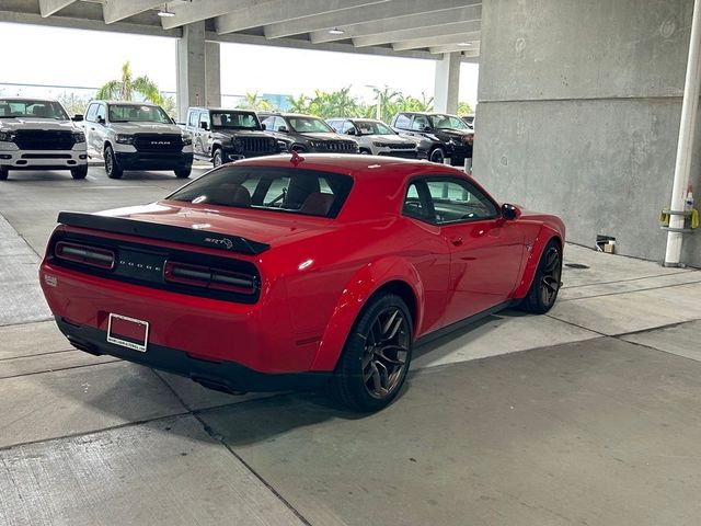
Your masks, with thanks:
M166 11L170 16L159 16ZM480 55L479 0L0 0L0 22L414 58Z

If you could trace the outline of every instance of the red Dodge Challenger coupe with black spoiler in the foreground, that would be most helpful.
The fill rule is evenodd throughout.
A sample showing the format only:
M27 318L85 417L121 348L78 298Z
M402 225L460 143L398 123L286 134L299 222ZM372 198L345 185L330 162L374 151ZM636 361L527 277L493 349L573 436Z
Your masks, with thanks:
M157 203L62 211L39 278L59 329L229 392L330 387L379 410L416 342L558 296L564 225L426 161L294 153Z

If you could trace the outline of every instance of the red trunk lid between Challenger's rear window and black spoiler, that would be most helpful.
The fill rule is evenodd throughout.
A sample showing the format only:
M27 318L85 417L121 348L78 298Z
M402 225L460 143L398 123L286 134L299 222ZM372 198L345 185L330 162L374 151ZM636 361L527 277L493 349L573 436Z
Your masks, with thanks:
M272 247L321 233L332 219L218 205L161 201L97 213L139 221L192 228L222 236L241 236Z

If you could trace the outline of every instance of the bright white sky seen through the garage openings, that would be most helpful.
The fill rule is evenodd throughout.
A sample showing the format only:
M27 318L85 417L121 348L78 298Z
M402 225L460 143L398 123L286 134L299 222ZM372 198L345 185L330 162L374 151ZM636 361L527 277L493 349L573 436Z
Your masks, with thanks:
M176 41L168 37L0 23L5 43L0 61L0 94L15 95L2 83L99 87L119 77L130 60L136 76L148 75L162 91L175 91ZM22 49L9 53L7 46ZM433 60L349 53L221 44L221 92L312 94L352 85L352 94L372 101L366 85L388 85L405 94L433 95ZM478 66L463 64L460 100L476 103ZM15 89L13 89L15 90ZM46 90L56 95L65 90ZM35 94L25 91L23 94Z

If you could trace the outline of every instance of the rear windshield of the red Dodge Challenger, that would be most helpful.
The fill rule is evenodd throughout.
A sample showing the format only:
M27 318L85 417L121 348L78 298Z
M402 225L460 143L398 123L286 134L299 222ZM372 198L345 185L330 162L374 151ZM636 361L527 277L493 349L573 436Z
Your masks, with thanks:
M336 217L353 186L338 173L286 167L225 167L168 196L172 201Z

